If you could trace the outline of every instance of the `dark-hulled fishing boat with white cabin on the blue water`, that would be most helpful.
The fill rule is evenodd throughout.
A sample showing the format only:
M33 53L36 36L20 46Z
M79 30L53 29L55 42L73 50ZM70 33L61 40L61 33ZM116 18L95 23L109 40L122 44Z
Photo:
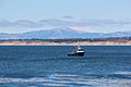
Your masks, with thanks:
M68 53L69 57L84 57L84 50L81 46L76 46L76 50L74 52Z

